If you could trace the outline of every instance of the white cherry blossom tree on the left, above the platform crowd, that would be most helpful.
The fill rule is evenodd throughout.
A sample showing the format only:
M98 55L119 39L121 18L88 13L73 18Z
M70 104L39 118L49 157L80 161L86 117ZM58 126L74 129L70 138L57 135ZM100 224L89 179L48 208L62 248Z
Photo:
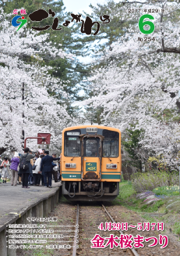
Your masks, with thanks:
M46 42L47 34L28 31L26 25L16 32L2 9L0 13L1 147L22 151L22 129L25 137L51 132L51 142L55 143L61 139L62 128L72 122L65 103L69 96L62 81L48 73L51 67L44 66L41 56L72 58L72 55L55 49L51 42ZM54 95L61 93L62 99L57 101L50 96L50 88Z

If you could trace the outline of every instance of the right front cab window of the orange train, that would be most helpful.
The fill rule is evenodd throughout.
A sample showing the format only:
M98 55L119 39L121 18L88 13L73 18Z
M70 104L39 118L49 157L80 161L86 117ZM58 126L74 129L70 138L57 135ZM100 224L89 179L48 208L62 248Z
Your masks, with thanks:
M118 132L103 131L103 157L118 157Z

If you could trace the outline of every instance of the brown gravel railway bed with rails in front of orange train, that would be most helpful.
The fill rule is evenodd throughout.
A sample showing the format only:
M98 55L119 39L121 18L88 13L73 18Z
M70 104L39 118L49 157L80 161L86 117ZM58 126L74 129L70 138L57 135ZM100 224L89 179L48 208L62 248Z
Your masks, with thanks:
M173 240L173 236L168 233L158 232L157 229L150 231L139 231L139 229L129 228L124 230L128 230L128 233L131 234L132 237L144 236L147 238L149 237L149 239L150 236L158 238L159 234L168 235L168 247L165 247L164 249L161 249L162 244L157 244L157 246L150 247L150 245L154 243L152 238L149 243L145 243L145 241L143 241L144 247L137 247L136 251L130 250L129 248L124 249L123 247L125 243L122 243L120 246L119 242L117 245L118 241L120 240L119 233L120 237L122 237L122 232L119 232L117 229L112 230L105 228L105 222L107 222L107 224L116 222L117 227L119 222L129 222L129 224L132 225L136 225L136 223L139 222L146 222L140 215L136 214L136 212L130 211L126 207L122 207L120 205L106 203L104 207L104 205L97 203L84 203L77 205L72 203L69 204L68 202L62 202L62 204L58 204L58 207L52 216L57 216L58 222L56 223L55 227L50 228L54 230L55 234L60 236L55 240L48 240L48 245L55 246L55 249L51 250L51 254L54 256L179 256L180 245L178 240ZM53 223L53 225L54 224L55 223ZM101 225L103 225L104 229L101 229ZM111 225L111 227L113 227L113 225ZM124 232L126 236L129 235L126 231ZM101 239L104 238L105 240L105 243L103 243L103 248L94 246L94 243L92 242L97 234ZM113 243L113 246L115 245L114 247L111 246L111 244L108 244L110 236L113 236L113 239L117 241L116 244ZM115 238L116 236L118 237ZM124 237L122 237L122 239L124 240ZM134 245L135 241L133 242L133 247ZM37 255L39 249L38 251L36 249L33 249L33 251L23 250L18 252L17 255L30 256L33 254L33 252L34 255ZM43 247L41 249L41 253L44 255L49 255L49 249Z

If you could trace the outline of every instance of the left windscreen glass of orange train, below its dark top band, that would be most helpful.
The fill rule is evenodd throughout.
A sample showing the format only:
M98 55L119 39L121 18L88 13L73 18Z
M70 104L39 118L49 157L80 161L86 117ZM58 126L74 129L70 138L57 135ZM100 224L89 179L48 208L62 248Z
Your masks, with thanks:
M71 136L65 138L65 157L80 156L80 140L79 137Z

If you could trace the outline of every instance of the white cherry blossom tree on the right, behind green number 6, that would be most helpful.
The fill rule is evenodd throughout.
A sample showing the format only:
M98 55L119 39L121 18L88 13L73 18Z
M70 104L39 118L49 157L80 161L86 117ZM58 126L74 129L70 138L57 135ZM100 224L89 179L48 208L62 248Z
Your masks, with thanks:
M160 11L152 13L153 9ZM139 18L145 10L154 16L155 30L151 34L139 31ZM164 163L176 169L180 164L179 11L178 2L158 1L125 3L112 13L121 22L131 21L131 25L110 49L102 52L99 64L95 59L89 78L93 96L83 102L94 110L103 107L102 122L119 128L124 137L126 128L143 129L139 142L142 161L152 154L163 154ZM143 29L148 31L150 27ZM167 109L173 112L168 121L163 116Z

